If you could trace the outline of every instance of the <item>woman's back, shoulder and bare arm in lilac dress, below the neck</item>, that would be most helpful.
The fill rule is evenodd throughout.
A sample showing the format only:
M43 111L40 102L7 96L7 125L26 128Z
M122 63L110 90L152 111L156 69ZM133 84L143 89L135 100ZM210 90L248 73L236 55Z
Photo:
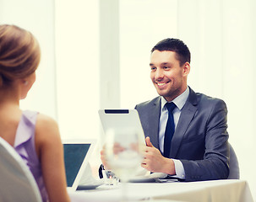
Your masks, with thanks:
M0 121L0 136L30 168L42 200L47 201L49 194L50 201L69 201L56 121L35 111L9 109L12 113L8 113L8 107L3 108L0 98L0 120L4 120Z

